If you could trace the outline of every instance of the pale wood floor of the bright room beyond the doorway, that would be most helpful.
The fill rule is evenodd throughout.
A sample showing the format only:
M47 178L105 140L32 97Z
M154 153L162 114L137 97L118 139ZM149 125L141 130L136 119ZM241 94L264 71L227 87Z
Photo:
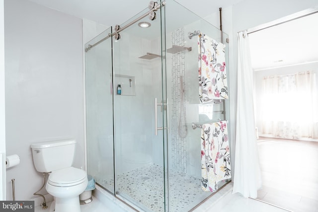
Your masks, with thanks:
M318 142L259 137L257 199L293 212L318 212Z

